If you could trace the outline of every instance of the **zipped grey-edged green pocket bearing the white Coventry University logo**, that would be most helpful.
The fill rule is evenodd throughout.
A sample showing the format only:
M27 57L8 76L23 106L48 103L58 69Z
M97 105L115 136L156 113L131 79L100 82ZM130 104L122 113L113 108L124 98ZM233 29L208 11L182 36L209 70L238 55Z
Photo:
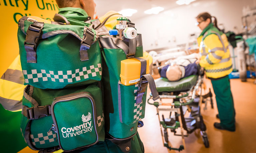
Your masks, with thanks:
M78 92L53 100L52 118L62 150L72 151L104 141L103 111L95 100L90 92Z

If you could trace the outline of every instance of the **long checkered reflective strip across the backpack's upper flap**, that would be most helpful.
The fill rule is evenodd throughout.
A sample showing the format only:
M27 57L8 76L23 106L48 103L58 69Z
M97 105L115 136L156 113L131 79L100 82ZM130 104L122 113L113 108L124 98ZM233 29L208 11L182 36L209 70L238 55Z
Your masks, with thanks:
M69 70L69 71L45 71L45 70L22 70L25 83L38 82L38 81L53 81L53 82L75 82L81 79L87 79L102 74L101 64L97 64L89 67L83 67L82 69ZM74 73L72 73L74 72Z

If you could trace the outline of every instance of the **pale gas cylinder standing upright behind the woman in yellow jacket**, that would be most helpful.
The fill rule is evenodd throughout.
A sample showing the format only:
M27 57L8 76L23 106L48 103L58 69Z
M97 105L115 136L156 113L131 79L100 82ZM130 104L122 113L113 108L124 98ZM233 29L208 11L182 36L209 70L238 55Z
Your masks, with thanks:
M244 41L238 42L235 50L237 51L239 77L244 82L247 79Z

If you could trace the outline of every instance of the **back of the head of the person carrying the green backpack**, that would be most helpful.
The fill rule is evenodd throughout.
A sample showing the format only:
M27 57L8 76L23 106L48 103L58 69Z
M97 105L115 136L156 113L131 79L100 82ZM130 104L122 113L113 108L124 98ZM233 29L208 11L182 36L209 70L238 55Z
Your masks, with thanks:
M83 9L91 19L95 12L95 3L93 0L56 0L59 8L77 7Z

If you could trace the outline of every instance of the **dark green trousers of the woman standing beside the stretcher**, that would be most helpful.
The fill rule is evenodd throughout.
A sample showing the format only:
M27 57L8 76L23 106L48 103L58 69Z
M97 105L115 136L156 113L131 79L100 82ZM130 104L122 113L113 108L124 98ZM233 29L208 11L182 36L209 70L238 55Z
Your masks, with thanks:
M230 90L229 77L211 80L216 97L220 117L220 125L230 131L235 131L235 108Z

